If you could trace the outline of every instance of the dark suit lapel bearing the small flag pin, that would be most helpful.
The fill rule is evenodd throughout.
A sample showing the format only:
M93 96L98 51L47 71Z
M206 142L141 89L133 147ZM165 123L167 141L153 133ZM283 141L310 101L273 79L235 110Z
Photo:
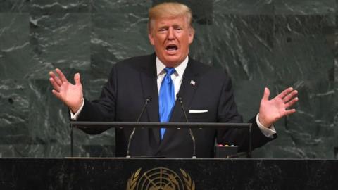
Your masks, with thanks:
M189 63L184 71L182 84L177 94L178 97L182 98L184 110L187 114L189 112L190 103L192 103L192 99L194 98L194 94L198 86L199 70L194 67L194 60L192 60L192 58L189 58ZM186 122L182 107L178 100L175 101L175 106L173 108L170 122ZM161 145L165 144L166 141L170 141L170 138L173 138L172 136L175 135L176 131L177 130L175 129L167 129L165 131Z

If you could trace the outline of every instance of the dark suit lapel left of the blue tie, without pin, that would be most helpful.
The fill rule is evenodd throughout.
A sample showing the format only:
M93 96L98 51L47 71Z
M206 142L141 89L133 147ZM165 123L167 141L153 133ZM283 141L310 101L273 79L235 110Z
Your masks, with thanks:
M157 76L156 76L156 56L155 54L150 56L148 63L142 65L142 72L140 73L140 79L143 89L144 99L150 99L151 101L146 106L146 113L148 115L149 122L158 122L158 89L157 89ZM157 144L160 143L160 129L152 128L151 131L154 134Z

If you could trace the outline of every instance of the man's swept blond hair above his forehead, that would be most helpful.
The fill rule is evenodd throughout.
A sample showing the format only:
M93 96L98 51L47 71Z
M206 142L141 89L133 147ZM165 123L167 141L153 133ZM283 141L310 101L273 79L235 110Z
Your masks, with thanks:
M148 30L151 31L153 20L158 18L175 18L185 16L187 24L192 28L192 10L184 4L177 2L165 2L149 8Z

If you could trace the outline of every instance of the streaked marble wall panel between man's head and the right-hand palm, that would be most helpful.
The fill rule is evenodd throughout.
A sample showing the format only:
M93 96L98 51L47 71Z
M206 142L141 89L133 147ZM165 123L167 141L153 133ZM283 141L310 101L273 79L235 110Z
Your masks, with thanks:
M213 65L225 68L234 82L273 78L273 22L273 15L215 15L208 34Z

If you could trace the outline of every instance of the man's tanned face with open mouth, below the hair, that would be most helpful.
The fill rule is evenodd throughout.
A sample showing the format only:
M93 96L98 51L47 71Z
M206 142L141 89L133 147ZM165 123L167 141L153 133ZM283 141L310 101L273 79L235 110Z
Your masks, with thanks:
M176 67L188 56L194 30L189 27L185 16L159 18L151 22L148 36L156 56L166 67Z

